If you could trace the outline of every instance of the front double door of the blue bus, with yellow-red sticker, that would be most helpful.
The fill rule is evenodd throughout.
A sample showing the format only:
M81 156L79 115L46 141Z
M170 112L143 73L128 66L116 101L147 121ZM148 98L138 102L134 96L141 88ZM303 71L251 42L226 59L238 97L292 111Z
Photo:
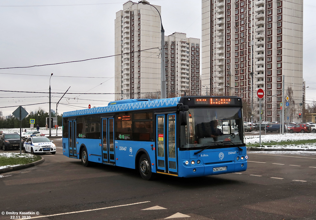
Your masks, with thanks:
M178 176L176 155L176 115L157 115L157 168L158 173Z

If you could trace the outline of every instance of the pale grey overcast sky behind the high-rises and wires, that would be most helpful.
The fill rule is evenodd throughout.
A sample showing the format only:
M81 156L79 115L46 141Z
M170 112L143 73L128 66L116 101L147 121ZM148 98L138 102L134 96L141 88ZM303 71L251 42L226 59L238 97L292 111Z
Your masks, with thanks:
M123 9L125 2L0 0L0 68L114 55L115 13ZM161 6L165 35L184 32L188 38L201 38L201 0L149 2ZM303 77L306 86L309 86L306 101L316 101L315 12L316 1L304 0ZM8 91L0 91L0 111L3 116L12 114L19 105L29 113L39 107L48 112L47 93L51 73L52 109L56 110L56 103L70 87L59 102L59 113L88 108L89 104L91 107L105 106L108 101L114 100L113 57L43 67L0 69L0 90ZM36 103L45 104L25 106Z

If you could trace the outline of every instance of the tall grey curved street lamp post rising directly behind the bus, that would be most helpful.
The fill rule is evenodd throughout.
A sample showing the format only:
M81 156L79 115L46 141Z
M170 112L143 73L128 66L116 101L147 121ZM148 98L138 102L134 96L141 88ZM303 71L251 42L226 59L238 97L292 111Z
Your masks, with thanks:
M150 4L146 0L139 1L138 3L153 6L158 11L158 9L154 5ZM160 16L160 21L161 21L161 71L160 71L161 87L160 88L161 88L161 98L165 99L167 97L166 70L165 70L165 30L163 29L163 26L162 26L162 20L161 20L161 15L159 11L158 11L158 14Z

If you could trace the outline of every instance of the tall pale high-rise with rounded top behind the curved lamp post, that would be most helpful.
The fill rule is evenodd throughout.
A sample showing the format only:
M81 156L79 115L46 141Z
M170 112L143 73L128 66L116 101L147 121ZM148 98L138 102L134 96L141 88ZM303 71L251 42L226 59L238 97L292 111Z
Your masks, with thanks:
M161 11L160 6L155 7ZM115 19L115 100L160 91L159 47L161 21L157 11L150 5L125 3Z

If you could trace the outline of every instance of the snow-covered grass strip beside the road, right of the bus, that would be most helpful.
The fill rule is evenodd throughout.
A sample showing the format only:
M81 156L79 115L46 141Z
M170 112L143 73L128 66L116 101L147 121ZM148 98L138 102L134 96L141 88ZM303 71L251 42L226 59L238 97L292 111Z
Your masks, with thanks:
M277 145L277 142L284 142L284 141L300 141L300 140L311 140L312 142L314 141L314 143L308 143L308 144L287 144L287 145ZM263 148L269 148L269 149L316 149L316 133L286 133L284 135L261 135L261 144L264 145L269 145L269 143L273 143L273 145L271 144L269 147L268 146L264 146ZM258 135L254 135L254 136L246 136L246 145L247 144L257 144L259 145L259 136ZM276 144L276 145L275 145Z

